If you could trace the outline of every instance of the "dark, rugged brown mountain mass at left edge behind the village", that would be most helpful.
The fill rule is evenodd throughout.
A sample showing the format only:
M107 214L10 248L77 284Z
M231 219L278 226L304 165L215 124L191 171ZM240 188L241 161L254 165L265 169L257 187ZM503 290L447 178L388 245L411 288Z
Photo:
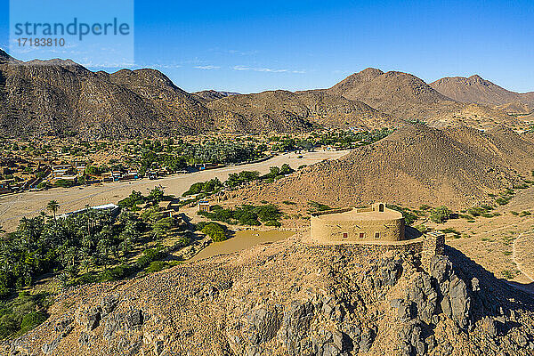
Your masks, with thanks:
M195 96L152 69L92 72L72 61L0 63L0 130L86 137L190 133L214 127Z

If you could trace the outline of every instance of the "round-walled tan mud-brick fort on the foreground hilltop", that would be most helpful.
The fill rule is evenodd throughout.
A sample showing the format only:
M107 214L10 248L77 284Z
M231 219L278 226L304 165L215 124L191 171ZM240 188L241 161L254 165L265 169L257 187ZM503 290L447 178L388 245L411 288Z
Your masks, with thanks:
M404 218L384 203L312 214L311 238L320 243L401 241Z

